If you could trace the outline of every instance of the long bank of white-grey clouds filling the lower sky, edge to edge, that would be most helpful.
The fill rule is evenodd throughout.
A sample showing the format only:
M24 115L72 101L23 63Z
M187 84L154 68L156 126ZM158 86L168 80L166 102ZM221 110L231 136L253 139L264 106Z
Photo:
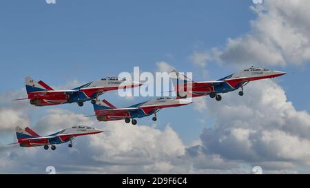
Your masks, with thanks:
M276 83L249 83L245 96L231 92L220 102L208 96L195 100L194 108L214 117L215 125L189 147L169 125L159 130L123 121L98 123L83 114L48 109L37 123L28 120L39 134L81 124L108 132L76 138L73 149L64 144L54 152L41 147L1 147L1 172L45 173L45 167L54 165L59 173L241 174L260 165L266 173L296 173L298 167L310 166L310 116L296 110ZM27 119L27 112L10 110L0 111L0 118L8 121L3 130L12 129L23 116ZM33 158L37 158L35 164Z

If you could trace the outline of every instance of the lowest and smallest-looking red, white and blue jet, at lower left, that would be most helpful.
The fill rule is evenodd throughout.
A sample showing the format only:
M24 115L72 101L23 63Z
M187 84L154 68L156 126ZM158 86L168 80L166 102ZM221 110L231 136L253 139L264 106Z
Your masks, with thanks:
M49 145L52 145L51 149L55 150L55 145L67 142L70 142L68 147L72 147L72 140L76 138L76 136L99 134L101 132L104 132L101 129L95 129L92 127L76 126L69 129L63 129L61 132L56 132L48 136L39 136L39 134L34 132L29 127L22 129L21 127L17 126L15 127L15 129L18 142L12 143L10 145L19 144L21 147L44 146L45 150L48 150Z

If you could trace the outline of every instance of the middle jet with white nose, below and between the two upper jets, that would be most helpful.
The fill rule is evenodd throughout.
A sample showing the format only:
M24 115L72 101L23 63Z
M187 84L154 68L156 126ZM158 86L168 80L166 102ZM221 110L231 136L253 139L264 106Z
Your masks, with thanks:
M157 121L157 112L167 107L179 107L192 103L187 99L173 99L169 97L156 98L151 101L138 103L130 107L116 108L111 103L103 100L96 101L94 104L94 112L98 121L118 121L125 120L125 123L136 125L137 121L135 118L143 118L154 114L153 121Z

